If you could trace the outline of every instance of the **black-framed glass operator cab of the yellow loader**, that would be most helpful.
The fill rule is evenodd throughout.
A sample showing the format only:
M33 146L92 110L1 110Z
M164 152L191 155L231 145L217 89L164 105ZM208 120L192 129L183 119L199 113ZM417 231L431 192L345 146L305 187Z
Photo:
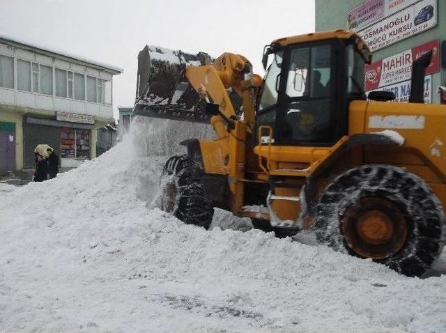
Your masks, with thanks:
M332 146L347 134L349 102L365 99L364 56L357 40L269 45L265 54L270 65L256 123L272 128L274 144Z

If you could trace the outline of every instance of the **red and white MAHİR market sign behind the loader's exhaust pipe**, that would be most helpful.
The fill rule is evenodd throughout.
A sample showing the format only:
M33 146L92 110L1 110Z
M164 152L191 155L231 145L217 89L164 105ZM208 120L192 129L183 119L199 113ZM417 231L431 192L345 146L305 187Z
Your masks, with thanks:
M375 61L370 65L365 65L365 90L371 91L410 80L413 61L430 50L432 50L432 59L426 68L426 75L438 72L440 70L440 40L432 40L394 56Z

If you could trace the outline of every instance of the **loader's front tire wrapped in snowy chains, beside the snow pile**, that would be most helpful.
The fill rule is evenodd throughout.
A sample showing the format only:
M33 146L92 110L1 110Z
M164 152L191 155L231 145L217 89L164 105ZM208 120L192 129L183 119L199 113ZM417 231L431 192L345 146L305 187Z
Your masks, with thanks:
M214 208L206 199L203 185L194 177L187 155L173 156L162 171L161 209L171 213L185 224L209 229Z

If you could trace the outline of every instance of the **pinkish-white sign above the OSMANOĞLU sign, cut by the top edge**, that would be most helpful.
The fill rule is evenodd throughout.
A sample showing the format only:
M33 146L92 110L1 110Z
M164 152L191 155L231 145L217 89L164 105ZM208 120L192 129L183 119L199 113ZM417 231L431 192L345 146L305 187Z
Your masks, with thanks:
M347 14L347 29L360 31L420 0L369 0Z

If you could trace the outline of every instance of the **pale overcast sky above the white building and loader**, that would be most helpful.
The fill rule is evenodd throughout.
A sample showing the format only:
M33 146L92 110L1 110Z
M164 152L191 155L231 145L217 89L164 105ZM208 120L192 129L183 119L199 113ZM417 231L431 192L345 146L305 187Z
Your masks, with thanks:
M246 56L263 75L263 46L314 31L314 0L0 0L0 35L124 69L113 104L132 107L146 44Z

